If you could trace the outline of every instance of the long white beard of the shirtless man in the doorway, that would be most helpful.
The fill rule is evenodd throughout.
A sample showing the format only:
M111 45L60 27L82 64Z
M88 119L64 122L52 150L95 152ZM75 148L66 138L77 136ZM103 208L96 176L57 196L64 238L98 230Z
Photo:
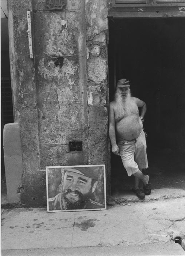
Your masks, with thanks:
M126 96L123 96L119 89L116 90L114 95L114 100L116 102L117 112L119 116L128 116L130 114L131 107L131 91Z

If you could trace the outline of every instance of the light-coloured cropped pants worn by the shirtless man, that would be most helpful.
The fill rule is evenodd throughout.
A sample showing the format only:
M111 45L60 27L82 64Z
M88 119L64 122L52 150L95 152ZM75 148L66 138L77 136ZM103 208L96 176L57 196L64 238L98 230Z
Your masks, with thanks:
M148 168L146 155L146 138L143 130L137 139L120 140L118 142L119 155L121 156L123 166L128 176L136 173L139 169Z

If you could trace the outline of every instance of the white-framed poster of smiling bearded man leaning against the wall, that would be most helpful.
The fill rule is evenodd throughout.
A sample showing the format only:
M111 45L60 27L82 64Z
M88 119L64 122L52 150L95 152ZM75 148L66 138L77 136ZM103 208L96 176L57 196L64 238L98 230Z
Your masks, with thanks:
M105 165L46 167L47 211L106 210Z

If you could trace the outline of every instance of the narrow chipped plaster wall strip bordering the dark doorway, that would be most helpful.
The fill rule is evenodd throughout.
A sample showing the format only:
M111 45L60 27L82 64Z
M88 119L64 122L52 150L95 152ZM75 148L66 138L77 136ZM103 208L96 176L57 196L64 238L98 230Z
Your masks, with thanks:
M107 87L107 1L86 0L88 161L106 165L110 192L110 152L108 145L109 102Z

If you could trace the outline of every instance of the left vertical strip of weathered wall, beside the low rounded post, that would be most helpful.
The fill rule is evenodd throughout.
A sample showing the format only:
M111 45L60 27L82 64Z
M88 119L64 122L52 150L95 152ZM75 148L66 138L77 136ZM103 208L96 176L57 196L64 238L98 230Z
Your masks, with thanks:
M45 193L44 175L40 172L38 106L35 65L29 57L27 10L32 1L9 0L9 48L15 122L20 125L23 151L23 177L17 188L22 204L42 205ZM13 145L12 145L13 147Z

